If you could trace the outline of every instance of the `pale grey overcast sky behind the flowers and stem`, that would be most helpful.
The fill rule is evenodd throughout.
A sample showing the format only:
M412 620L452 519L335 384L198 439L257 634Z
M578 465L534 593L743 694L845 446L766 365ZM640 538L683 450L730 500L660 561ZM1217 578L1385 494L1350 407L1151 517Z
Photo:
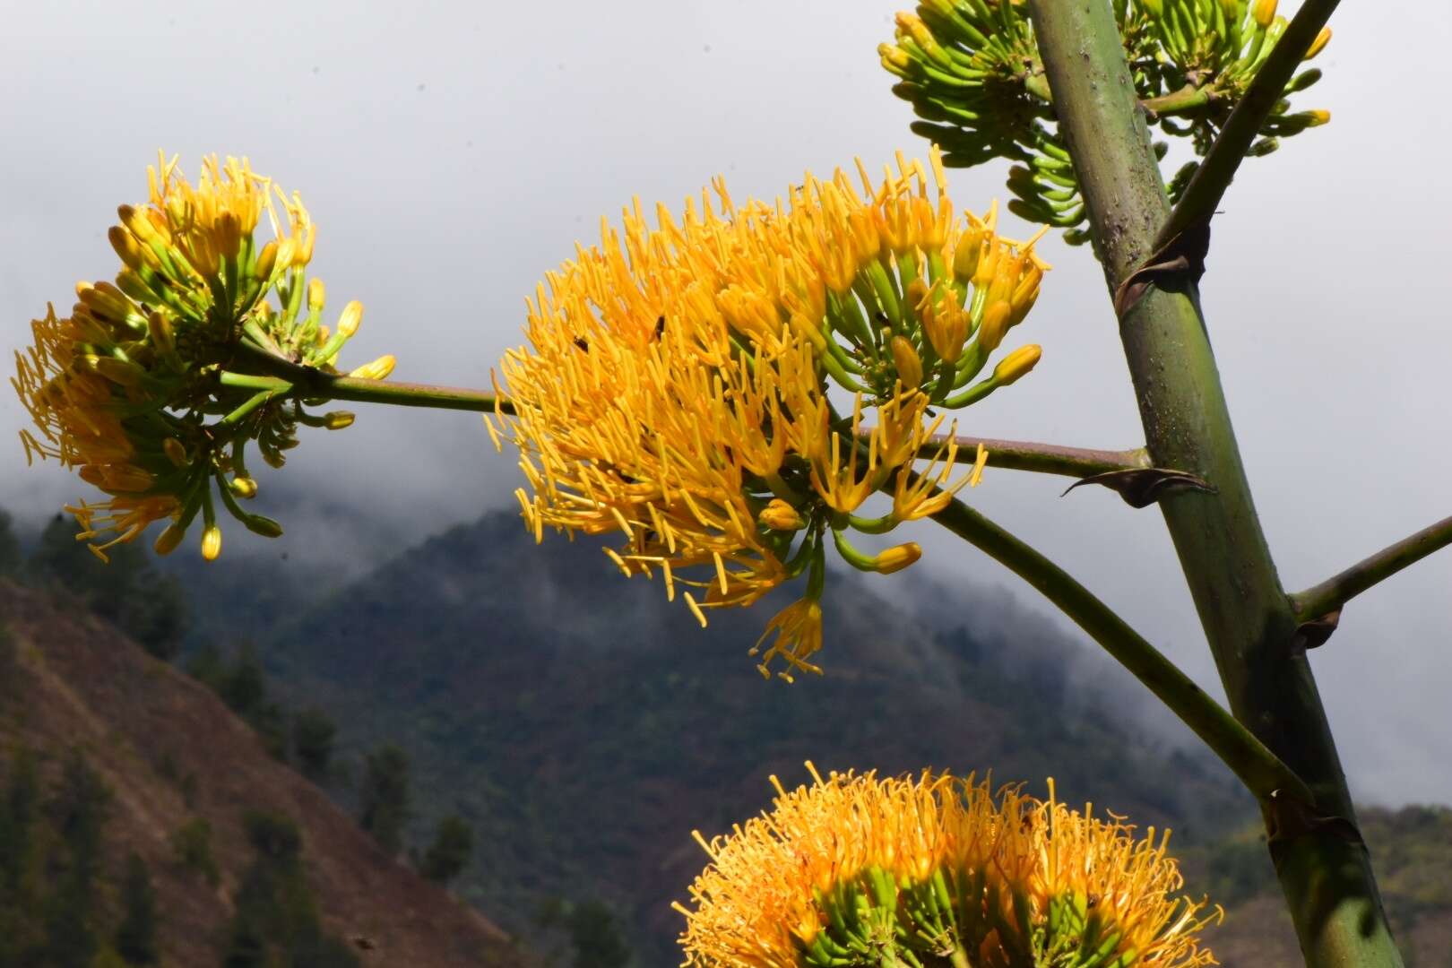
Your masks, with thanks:
M485 386L520 341L542 273L639 193L680 206L716 173L774 197L803 170L923 154L876 45L893 0L550 4L293 1L13 4L0 33L0 344L78 279L107 279L106 228L145 197L157 148L195 174L247 154L301 190L321 226L314 270L333 312L367 306L359 363ZM1288 4L1282 4L1286 7ZM1294 4L1289 4L1294 9ZM1291 10L1284 9L1289 13ZM1204 305L1262 520L1302 588L1452 511L1446 446L1452 132L1426 96L1452 80L1452 4L1347 0L1297 97L1331 125L1247 163L1215 221ZM1005 164L950 173L958 206L1005 194ZM1027 234L1031 229L1022 226ZM1016 334L1044 361L966 412L961 430L1093 447L1140 443L1115 322L1088 250L1056 264ZM0 430L25 419L0 393ZM20 517L86 493L0 444L0 506ZM9 447L9 451L3 450ZM412 543L505 506L514 462L476 417L359 414L315 431L283 472L347 524L280 538L335 549ZM264 469L266 470L266 469ZM1214 668L1157 511L1061 479L984 476L970 499L1060 560L1211 691ZM305 515L306 511L299 514ZM335 518L334 518L335 520ZM916 570L1034 592L931 524ZM228 531L228 549L245 533ZM1313 653L1358 797L1452 801L1452 551L1358 598ZM944 601L942 608L953 608ZM762 615L762 621L765 621Z

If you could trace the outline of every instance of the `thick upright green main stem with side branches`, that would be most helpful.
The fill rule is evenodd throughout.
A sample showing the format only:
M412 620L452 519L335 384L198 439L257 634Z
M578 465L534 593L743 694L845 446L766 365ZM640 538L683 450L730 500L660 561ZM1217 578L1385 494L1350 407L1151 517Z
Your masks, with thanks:
M1308 0L1313 1L1313 0ZM1109 290L1156 251L1167 219L1160 170L1134 99L1109 0L1029 0L1060 131ZM1230 424L1199 293L1186 277L1150 286L1119 319L1150 459L1217 488L1160 508L1230 707L1345 823L1284 823L1268 811L1272 858L1301 951L1316 968L1400 967L1336 745Z

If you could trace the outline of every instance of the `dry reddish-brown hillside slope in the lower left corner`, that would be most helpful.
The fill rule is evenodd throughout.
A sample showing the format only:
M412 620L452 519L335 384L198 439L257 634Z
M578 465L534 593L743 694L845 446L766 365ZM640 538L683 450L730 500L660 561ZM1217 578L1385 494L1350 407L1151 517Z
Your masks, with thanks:
M364 965L533 964L495 924L385 856L208 689L109 625L3 579L0 623L13 643L0 669L0 752L23 745L54 765L80 749L103 776L113 794L106 850L135 850L151 868L166 964L218 964L218 938L254 853L247 808L296 821L324 927L367 939ZM171 837L193 817L212 827L215 890L174 856Z

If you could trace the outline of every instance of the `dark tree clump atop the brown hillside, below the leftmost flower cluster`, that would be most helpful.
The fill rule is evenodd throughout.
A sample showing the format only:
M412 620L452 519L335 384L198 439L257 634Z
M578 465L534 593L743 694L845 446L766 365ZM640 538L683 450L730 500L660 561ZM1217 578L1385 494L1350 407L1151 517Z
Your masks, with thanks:
M76 524L58 514L30 554L30 575L76 595L158 659L173 659L190 623L182 585L161 575L134 544L116 544L106 554L109 565L77 541Z

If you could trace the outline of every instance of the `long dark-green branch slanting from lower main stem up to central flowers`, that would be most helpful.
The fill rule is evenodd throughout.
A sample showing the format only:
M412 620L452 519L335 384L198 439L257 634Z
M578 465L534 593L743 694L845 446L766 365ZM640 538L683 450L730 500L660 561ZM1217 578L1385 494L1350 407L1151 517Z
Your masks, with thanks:
M1061 567L958 499L932 520L1008 567L1059 607L1194 730L1262 803L1269 801L1270 794L1278 789L1282 795L1311 801L1310 788L1289 766Z

